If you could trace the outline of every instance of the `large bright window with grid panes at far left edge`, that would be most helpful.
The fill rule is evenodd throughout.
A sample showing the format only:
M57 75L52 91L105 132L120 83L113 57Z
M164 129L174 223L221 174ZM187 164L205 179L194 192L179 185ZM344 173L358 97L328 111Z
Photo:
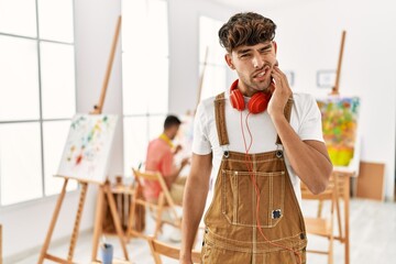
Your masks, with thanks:
M53 175L76 112L73 7L0 1L0 206L61 190Z

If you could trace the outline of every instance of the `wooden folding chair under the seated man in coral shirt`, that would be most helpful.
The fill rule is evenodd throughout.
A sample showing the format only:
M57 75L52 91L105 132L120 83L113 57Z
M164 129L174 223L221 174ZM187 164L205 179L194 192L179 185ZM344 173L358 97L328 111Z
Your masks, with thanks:
M148 207L148 210L153 210L155 212L155 230L154 230L155 239L157 238L160 231L162 231L162 227L164 223L182 229L182 218L177 216L175 209L176 204L174 202L169 194L169 190L166 186L163 176L160 173L140 172L134 168L132 170L135 177L135 189L144 188L143 180L153 180L160 183L160 186L162 187L162 191L160 193L157 202L147 201L144 197L138 195L140 191L134 191L131 202L130 218L128 221L127 239L129 240L130 235L135 235L139 238L146 239L146 235L143 234L143 232L140 232L133 228L133 220L135 218L135 208L138 205ZM172 215L172 219L163 219L164 210L169 211L169 213Z

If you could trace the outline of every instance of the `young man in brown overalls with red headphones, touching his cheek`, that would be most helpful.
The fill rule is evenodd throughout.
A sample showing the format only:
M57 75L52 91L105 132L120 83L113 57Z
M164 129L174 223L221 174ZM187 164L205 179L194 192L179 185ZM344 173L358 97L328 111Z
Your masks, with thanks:
M239 79L197 110L180 263L191 263L208 191L202 263L306 263L299 180L321 193L332 165L315 99L293 94L278 67L275 29L238 13L219 31Z

